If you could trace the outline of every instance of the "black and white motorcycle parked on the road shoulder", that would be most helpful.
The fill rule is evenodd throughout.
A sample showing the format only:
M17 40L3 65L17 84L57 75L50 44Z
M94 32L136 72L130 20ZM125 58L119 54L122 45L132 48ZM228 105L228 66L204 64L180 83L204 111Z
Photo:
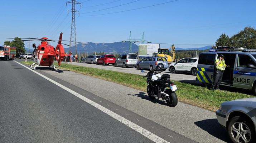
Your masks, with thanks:
M159 63L156 65L156 70L150 71L143 76L143 78L147 78L147 92L151 100L158 97L158 99L165 100L168 106L175 107L178 104L178 97L175 93L177 86L170 81L169 74L159 74L163 72L163 67L164 65ZM140 71L146 73L144 70Z

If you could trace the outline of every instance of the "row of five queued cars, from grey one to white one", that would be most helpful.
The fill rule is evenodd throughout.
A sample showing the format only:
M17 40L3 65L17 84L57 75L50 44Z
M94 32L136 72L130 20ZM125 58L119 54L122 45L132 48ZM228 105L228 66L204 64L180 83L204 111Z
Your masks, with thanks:
M183 58L178 62L168 64L165 57L144 57L139 60L136 53L122 53L117 58L112 54L88 55L83 58L82 63L115 65L115 67L121 66L123 68L135 67L138 70L148 69L151 71L156 68L158 63L163 63L163 71L168 69L170 73L185 72L197 75L198 58Z

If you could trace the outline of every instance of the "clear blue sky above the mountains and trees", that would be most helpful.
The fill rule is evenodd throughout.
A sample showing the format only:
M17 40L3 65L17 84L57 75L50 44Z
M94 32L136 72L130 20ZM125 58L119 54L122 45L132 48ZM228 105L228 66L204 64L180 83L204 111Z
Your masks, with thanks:
M14 37L58 39L61 32L69 40L72 4L67 1L0 0L0 45ZM231 37L256 25L255 0L76 1L82 5L76 4L77 42L121 42L130 32L132 39L142 39L144 32L146 41L161 48L198 48L215 44L222 33Z

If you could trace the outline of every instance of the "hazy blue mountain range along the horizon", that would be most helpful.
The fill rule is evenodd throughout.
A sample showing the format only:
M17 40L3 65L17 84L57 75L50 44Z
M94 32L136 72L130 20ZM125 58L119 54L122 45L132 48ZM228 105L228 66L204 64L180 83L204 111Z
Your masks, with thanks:
M28 48L26 49L26 53L29 52ZM175 48L176 50L205 50L205 49L211 49L211 46L205 46L201 48ZM30 53L32 53L34 48L30 48ZM69 51L69 47L65 48L65 52ZM71 51L75 51L75 47L71 47ZM129 42L114 42L114 43L92 43L88 42L86 43L79 43L77 44L77 52L78 53L92 53L92 52L129 52ZM132 43L132 52L138 52L139 46Z

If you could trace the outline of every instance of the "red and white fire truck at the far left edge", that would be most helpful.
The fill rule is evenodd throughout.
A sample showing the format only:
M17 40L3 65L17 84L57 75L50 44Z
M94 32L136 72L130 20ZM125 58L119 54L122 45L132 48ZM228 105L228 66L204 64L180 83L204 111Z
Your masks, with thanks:
M16 55L16 47L12 46L0 46L0 59L1 60L14 60Z

